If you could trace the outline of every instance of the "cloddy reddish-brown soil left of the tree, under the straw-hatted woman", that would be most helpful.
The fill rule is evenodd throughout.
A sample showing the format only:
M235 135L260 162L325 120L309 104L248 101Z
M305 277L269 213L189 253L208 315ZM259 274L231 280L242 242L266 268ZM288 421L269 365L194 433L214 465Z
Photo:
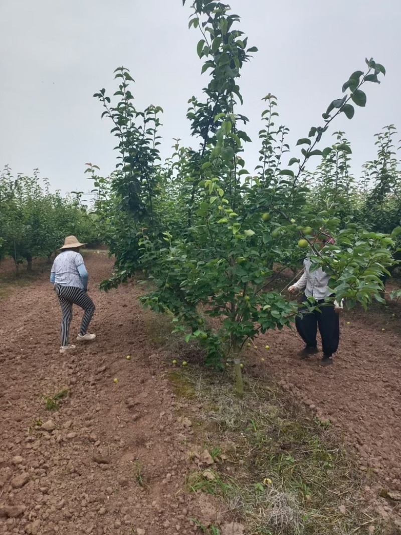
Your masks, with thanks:
M98 293L112 262L86 258L98 337L74 356L59 354L48 274L0 302L0 533L195 533L196 503L180 492L194 432L180 421L163 355L146 341L150 317L135 286ZM65 389L60 410L45 410L42 396Z

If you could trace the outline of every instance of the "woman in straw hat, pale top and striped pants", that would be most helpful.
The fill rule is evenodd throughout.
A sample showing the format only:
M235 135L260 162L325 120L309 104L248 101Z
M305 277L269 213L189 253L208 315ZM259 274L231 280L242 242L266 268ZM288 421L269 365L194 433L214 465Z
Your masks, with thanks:
M55 258L51 269L50 282L55 285L63 312L60 353L75 349L74 345L68 343L73 304L84 310L81 330L76 339L80 342L88 342L96 338L96 334L87 333L90 320L95 312L95 305L87 294L88 272L79 252L80 247L84 245L86 243L80 243L75 236L67 236L63 247L60 247L61 253Z

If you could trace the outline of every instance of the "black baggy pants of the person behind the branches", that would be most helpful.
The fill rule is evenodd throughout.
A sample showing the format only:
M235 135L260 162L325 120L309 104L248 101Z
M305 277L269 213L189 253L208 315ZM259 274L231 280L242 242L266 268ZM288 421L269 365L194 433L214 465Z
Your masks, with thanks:
M305 297L306 299L306 297ZM297 331L308 347L317 346L318 327L322 339L323 354L331 357L336 353L340 343L340 317L334 309L333 303L325 304L325 301L318 301L322 305L319 310L308 312L301 309L302 318L297 317L295 325Z

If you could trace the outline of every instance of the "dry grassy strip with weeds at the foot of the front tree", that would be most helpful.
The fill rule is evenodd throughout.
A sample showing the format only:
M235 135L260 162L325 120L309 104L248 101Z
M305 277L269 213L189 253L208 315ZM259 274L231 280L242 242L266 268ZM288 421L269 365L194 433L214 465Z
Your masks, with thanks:
M250 535L385 533L367 509L356 460L328 421L253 380L239 400L229 378L215 385L215 375L190 377L184 370L170 378L174 386L185 385L178 393L191 392L205 407L197 418L217 461L189 473L187 491L220 498Z

